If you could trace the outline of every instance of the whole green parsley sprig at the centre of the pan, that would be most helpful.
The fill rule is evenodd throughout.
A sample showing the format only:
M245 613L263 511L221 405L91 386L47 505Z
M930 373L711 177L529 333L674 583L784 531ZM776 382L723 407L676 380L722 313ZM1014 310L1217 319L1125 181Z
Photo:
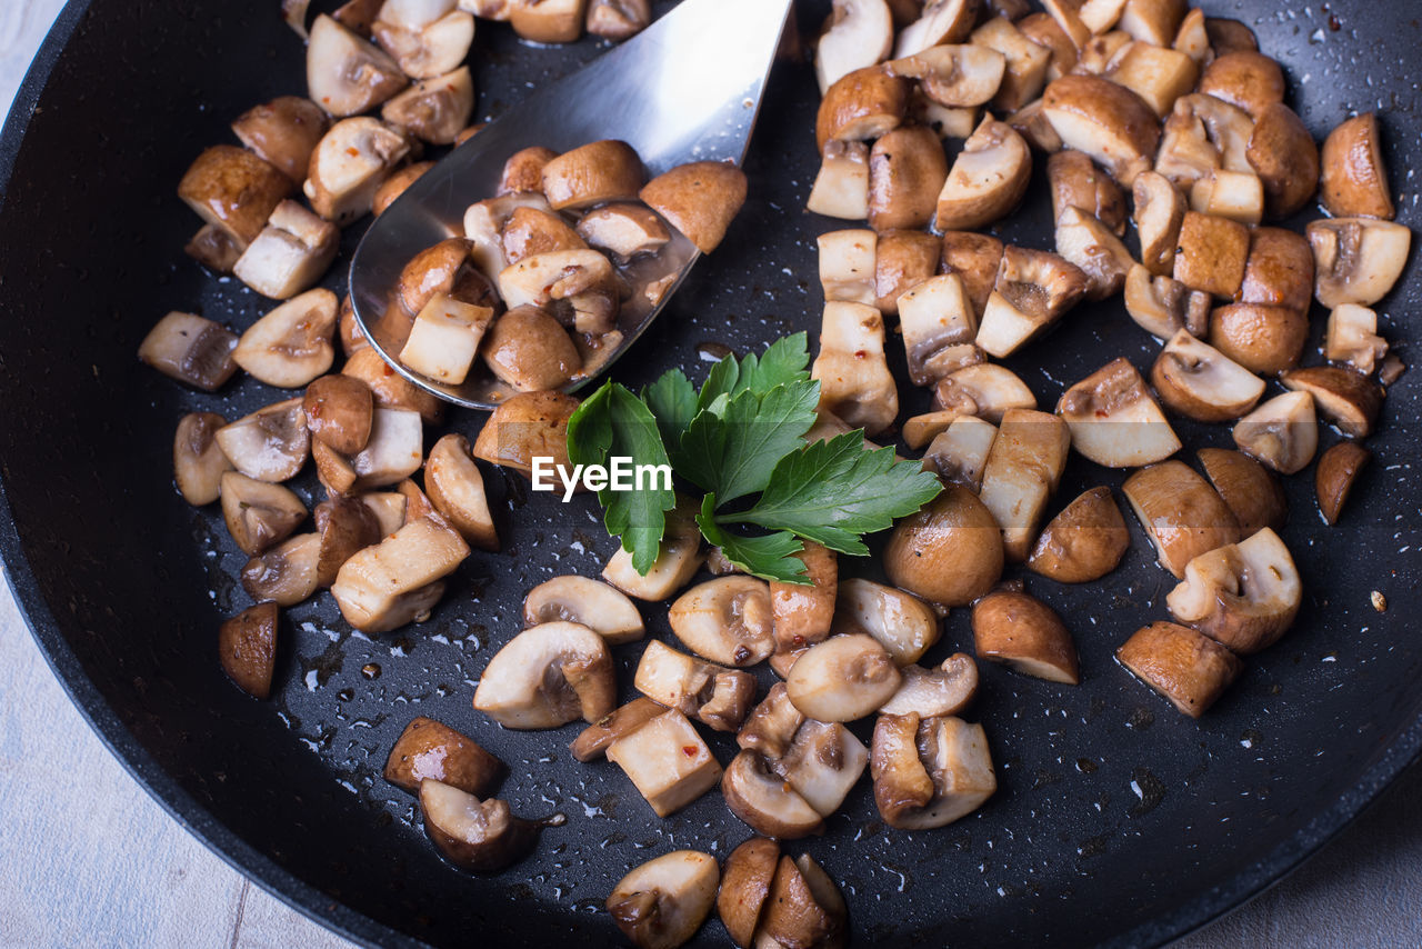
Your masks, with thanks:
M681 370L640 396L603 384L569 420L567 454L582 465L607 465L614 455L670 464L684 488L702 492L695 522L728 561L762 579L809 583L795 556L803 541L866 555L863 535L941 489L917 464L896 462L892 448L866 448L862 430L806 442L818 404L806 337L796 333L761 356L721 360L700 391ZM609 489L599 501L607 532L647 573L675 492Z

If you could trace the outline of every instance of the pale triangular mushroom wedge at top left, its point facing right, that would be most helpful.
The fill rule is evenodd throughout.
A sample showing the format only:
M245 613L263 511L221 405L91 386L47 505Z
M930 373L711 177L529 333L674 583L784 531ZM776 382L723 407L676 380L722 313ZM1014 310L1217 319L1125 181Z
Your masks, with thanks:
M316 17L306 46L306 88L327 112L337 118L367 112L408 83L383 50L326 14Z

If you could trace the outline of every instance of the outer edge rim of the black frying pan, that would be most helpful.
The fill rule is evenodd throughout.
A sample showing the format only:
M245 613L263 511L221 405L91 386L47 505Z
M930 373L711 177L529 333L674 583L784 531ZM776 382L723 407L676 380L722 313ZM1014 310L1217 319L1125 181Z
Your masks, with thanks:
M50 74L68 47L81 20L97 0L68 0L16 92L0 129L0 208L9 193L14 165L28 131L30 117L48 84ZM20 529L10 507L4 475L0 474L0 561L20 615L71 704L104 747L141 788L185 831L198 838L243 878L297 909L313 922L363 946L424 946L427 943L385 926L358 909L321 892L287 871L269 855L250 847L205 808L169 775L134 737L84 673L50 605L40 593L40 580L26 555ZM1220 919L1260 896L1325 844L1349 827L1409 765L1422 758L1422 714L1404 727L1334 804L1315 814L1303 828L1264 857L1187 899L1172 911L1108 939L1105 946L1162 946Z

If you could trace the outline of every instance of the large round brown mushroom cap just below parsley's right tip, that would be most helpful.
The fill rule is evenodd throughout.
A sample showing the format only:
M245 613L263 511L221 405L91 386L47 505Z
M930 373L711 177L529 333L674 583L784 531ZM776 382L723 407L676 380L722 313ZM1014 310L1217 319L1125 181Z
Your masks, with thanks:
M884 549L890 582L944 606L966 606L1003 575L1003 531L961 485L894 526Z

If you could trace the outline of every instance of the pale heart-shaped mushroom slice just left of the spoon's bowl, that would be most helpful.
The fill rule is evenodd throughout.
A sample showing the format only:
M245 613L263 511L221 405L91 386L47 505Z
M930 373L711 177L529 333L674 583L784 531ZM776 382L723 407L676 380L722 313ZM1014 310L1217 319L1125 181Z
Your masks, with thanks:
M320 287L287 300L247 327L232 350L233 361L267 386L300 388L311 383L336 361L331 336L338 303Z

